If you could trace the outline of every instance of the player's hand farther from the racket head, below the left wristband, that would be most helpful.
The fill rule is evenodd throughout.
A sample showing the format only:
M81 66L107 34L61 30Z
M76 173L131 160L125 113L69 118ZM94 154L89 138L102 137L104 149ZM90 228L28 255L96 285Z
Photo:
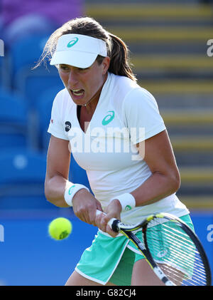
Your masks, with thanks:
M74 195L72 208L80 220L94 226L97 226L95 223L96 211L103 211L100 202L86 189L79 190Z

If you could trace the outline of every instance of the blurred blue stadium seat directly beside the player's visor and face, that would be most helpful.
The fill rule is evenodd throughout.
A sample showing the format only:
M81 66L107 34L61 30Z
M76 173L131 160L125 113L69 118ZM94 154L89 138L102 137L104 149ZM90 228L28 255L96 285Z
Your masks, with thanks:
M49 35L33 34L16 41L9 49L11 88L18 90L27 100L30 108L34 108L35 100L40 93L53 86L63 88L58 70L54 66L35 67Z

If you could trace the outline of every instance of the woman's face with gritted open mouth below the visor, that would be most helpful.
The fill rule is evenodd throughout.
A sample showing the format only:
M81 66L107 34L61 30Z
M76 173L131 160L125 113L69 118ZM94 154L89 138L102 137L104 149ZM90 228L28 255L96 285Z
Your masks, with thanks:
M59 65L58 71L62 82L77 105L84 105L97 95L103 86L109 68L109 57L99 65L94 61L89 68L77 68L70 65Z

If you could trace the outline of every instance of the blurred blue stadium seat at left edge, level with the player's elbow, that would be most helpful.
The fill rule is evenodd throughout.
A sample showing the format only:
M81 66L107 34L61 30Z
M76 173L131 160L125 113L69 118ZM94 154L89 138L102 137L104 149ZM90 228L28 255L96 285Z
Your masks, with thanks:
M45 199L45 155L26 148L0 151L0 210L55 208Z

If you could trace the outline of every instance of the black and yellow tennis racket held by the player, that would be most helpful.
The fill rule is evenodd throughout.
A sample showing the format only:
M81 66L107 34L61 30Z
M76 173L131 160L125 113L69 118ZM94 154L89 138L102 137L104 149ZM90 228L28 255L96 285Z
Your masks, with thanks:
M166 286L211 285L211 271L202 244L178 217L158 213L134 225L118 219L111 219L108 224L136 245ZM141 232L141 239L136 237L136 232Z

